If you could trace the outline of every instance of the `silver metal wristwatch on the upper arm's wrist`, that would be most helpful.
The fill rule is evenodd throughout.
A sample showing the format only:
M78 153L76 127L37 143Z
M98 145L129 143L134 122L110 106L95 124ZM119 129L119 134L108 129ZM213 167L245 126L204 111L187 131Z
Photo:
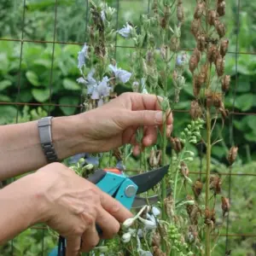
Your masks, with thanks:
M51 137L51 119L52 116L44 117L43 119L38 120L38 131L40 142L44 150L44 155L49 163L57 162L58 157L55 153L55 148L52 143Z

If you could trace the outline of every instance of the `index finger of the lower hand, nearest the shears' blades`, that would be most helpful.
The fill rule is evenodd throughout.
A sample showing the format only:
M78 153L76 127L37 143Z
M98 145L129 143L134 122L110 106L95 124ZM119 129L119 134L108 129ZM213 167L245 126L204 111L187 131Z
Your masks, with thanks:
M102 207L111 214L113 218L116 218L119 223L123 223L126 218L131 218L133 216L127 208L107 193L101 193L101 203Z

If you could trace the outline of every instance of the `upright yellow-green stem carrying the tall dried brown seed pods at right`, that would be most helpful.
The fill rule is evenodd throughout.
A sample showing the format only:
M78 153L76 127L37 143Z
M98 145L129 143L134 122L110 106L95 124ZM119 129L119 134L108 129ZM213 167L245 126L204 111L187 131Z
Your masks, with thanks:
M207 107L207 180L206 180L206 207L209 206L209 194L210 194L210 164L211 164L211 113ZM206 227L206 256L211 255L211 238L210 238L211 226Z

